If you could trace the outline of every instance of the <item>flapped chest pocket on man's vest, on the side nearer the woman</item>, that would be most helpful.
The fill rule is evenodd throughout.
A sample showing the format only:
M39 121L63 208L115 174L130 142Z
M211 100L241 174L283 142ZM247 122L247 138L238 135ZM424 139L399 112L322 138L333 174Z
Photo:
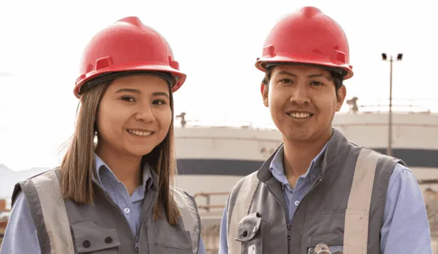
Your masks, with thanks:
M258 212L248 214L240 220L235 240L242 242L242 253L263 253L262 233L264 229L261 227L268 227L268 225L262 223Z

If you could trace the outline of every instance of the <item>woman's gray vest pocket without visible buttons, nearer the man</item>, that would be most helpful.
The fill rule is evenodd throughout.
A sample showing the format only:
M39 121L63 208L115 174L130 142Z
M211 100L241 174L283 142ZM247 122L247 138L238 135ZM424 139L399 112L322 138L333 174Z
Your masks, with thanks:
M153 231L148 229L149 253L192 253L190 231Z

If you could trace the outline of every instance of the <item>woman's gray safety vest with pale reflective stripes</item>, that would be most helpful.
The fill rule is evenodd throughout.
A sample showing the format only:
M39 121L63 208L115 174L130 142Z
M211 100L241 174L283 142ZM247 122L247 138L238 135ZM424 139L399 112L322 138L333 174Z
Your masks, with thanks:
M59 169L49 170L21 181L12 195L13 204L23 190L42 254L198 253L201 219L196 202L183 190L174 189L181 217L178 225L172 226L166 218L153 219L157 197L154 181L144 197L140 229L135 236L123 213L99 183L93 181L94 203L77 205L62 198L59 173Z

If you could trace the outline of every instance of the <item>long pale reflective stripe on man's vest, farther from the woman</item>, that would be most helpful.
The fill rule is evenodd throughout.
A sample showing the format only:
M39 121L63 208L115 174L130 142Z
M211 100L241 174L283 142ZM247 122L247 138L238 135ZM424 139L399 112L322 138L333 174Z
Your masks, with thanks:
M357 157L344 226L344 254L366 254L374 175L380 153L362 148Z

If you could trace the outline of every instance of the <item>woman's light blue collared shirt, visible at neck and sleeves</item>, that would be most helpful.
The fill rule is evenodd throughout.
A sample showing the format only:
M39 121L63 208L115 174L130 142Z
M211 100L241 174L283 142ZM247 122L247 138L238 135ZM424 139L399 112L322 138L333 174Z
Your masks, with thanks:
M143 169L142 185L129 196L122 182L112 173L112 170L97 155L94 155L97 180L114 203L125 215L134 235L140 227L140 218L145 190L152 186L151 169L146 164ZM94 174L93 174L94 177ZM8 226L5 230L0 254L41 254L40 243L36 235L36 227L32 220L29 206L23 192L18 194L11 210ZM199 242L199 254L206 254L203 240Z

